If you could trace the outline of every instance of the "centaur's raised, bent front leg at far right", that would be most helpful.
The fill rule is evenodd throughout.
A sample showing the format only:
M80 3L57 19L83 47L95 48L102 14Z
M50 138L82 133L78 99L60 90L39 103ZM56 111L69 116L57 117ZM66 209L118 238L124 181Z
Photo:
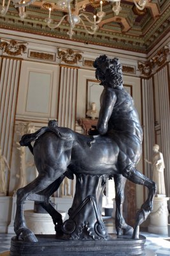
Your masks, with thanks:
M148 198L146 199L145 203L141 205L141 209L136 214L136 224L134 227L134 232L132 238L138 239L139 238L139 225L146 220L150 212L152 211L153 207L153 197L156 193L156 184L152 180L148 179L145 175L138 172L136 168L133 168L131 171L125 170L123 175L131 180L132 182L140 185L146 186L148 188Z

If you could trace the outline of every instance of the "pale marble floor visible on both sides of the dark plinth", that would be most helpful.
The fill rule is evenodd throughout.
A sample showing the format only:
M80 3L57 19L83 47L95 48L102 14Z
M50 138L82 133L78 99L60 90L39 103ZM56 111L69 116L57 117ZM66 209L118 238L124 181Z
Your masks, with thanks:
M140 232L146 237L146 256L170 256L170 237L150 234L148 232ZM0 255L10 250L10 241L13 234L0 234ZM149 253L152 252L152 253Z

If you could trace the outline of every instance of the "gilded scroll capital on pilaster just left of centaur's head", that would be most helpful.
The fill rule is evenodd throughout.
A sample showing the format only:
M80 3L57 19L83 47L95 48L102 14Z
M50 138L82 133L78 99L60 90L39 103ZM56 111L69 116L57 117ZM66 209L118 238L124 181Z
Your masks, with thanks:
M71 49L58 49L59 58L61 61L64 61L67 64L77 64L81 60L82 52L73 51Z

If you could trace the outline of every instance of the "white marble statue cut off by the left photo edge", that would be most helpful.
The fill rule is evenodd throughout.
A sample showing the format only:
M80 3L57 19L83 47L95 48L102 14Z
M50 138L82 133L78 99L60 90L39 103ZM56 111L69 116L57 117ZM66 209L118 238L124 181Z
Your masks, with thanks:
M0 196L6 196L6 169L10 171L10 167L6 157L2 155L1 151L0 148Z

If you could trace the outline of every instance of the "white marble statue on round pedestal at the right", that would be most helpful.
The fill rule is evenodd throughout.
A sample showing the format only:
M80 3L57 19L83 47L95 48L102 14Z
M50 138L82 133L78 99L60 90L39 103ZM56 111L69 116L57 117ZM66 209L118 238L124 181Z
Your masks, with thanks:
M153 145L153 157L152 162L145 159L149 164L152 164L153 181L157 184L157 195L166 195L165 180L164 180L164 157L159 152L159 145Z

